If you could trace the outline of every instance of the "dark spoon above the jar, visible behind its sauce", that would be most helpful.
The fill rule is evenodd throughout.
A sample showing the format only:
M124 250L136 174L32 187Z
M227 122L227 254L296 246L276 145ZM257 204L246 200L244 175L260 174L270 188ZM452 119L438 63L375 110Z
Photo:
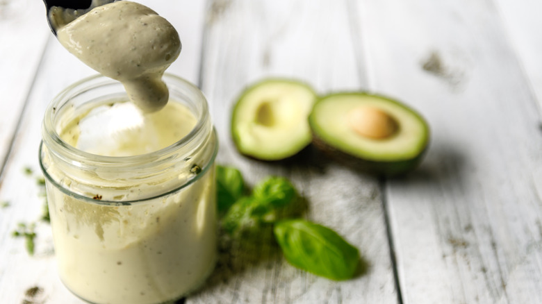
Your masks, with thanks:
M47 10L47 23L56 35L59 28L90 12L92 8L116 0L43 0Z

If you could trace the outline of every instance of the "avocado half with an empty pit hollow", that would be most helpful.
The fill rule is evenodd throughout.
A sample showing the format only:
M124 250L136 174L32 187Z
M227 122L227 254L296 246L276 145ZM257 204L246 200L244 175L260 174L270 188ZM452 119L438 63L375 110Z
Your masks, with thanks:
M311 143L307 117L316 95L304 83L268 79L240 96L231 117L238 151L259 160L282 160Z

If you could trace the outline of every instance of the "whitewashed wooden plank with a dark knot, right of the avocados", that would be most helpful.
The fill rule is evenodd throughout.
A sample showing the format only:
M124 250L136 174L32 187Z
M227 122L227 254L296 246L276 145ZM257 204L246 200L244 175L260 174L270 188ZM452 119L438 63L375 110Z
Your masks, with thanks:
M387 183L403 303L541 303L539 116L495 6L364 4L372 89L432 126L420 169Z

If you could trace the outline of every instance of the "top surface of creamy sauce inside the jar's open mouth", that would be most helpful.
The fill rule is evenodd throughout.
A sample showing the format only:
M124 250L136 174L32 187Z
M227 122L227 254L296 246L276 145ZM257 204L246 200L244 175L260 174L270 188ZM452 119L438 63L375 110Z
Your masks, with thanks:
M99 105L69 117L59 130L62 140L81 151L105 156L132 156L170 146L190 133L196 117L181 103L142 113L131 102Z

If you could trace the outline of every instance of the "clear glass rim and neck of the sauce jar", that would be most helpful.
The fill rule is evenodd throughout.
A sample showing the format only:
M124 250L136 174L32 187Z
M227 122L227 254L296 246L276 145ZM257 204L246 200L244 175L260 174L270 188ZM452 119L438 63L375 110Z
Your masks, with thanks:
M57 160L60 160L61 163L69 165L69 167L78 167L82 170L90 171L92 168L100 167L113 169L115 171L118 170L124 173L136 170L150 172L156 170L154 169L156 166L167 164L168 161L177 159L180 155L190 155L189 153L192 151L200 149L199 145L202 144L202 142L206 142L209 138L212 137L216 139L216 130L211 124L211 115L208 111L208 103L202 91L185 79L172 74L164 74L163 80L168 87L170 87L170 84L172 84L170 91L174 90L176 91L176 94L185 96L190 101L195 101L193 105L195 105L197 109L192 112L197 119L197 123L187 135L182 137L177 142L164 147L163 149L158 149L156 151L139 155L97 155L77 149L75 146L65 142L57 131L57 119L58 117L61 117L58 116L58 114L62 113L61 109L63 105L69 105L72 99L75 99L90 90L99 89L108 85L120 85L118 81L100 74L86 77L66 87L57 96L55 96L49 105L47 105L42 123L42 141L40 142L38 154L40 169L42 169L45 178L47 178L47 180L49 180L54 187L60 189L61 192L64 192L75 199L98 205L119 206L133 205L134 203L144 203L145 201L149 201L151 199L167 196L168 194L177 192L180 189L195 183L196 180L199 180L199 178L204 176L204 174L206 174L206 172L213 166L215 161L218 151L218 143L216 141L214 141L215 144L213 144L213 151L208 151L208 158L206 158L204 163L201 163L201 167L199 167L201 171L198 171L197 174L194 174L192 177L186 178L183 183L179 183L178 187L170 187L165 189L165 192L126 201L92 199L84 194L74 192L72 189L68 189L65 187L65 185L62 185L59 180L56 180L56 178L48 172L49 168L47 165L44 164L43 155L45 153L44 151L47 151L47 153L50 155L55 155L54 157ZM104 96L108 95L104 94ZM85 100L85 102L81 103L81 105L84 105L88 101L92 102L92 100L94 100L86 100L84 99L84 96L82 98ZM72 102L72 104L74 103ZM186 158L185 161L188 161L189 159L190 158Z

